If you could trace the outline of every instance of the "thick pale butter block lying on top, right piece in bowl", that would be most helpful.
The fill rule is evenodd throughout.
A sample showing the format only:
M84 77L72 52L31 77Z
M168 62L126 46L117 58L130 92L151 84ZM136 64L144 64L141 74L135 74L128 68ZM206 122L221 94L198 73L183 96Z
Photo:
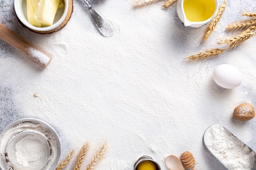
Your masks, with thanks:
M53 24L61 0L40 0L35 11L35 19L44 26Z

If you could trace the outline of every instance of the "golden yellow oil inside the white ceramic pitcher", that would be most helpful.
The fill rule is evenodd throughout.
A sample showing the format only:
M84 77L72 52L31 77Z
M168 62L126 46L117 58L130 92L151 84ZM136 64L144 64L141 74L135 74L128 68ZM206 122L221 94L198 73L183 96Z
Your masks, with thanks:
M191 22L205 21L211 18L215 10L214 0L184 0L184 12Z

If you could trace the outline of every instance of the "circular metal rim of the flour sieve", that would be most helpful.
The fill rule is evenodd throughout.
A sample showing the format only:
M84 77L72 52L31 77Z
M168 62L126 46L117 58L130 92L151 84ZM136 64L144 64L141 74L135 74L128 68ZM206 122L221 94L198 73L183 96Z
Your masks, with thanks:
M45 161L45 162L46 162L45 165L44 165L43 168L41 168L40 170L44 170L44 169L48 166L49 162L50 162L51 159L52 159L52 145L51 145L50 141L48 140L48 138L45 136L45 134L43 134L43 133L41 133L41 132L38 132L38 131L36 131L36 130L22 130L22 131L16 133L16 135L13 135L13 137L11 137L11 138L9 139L9 141L8 141L6 147L5 147L5 153L4 153L4 154L5 154L5 161L7 162L7 164L8 164L9 167L10 167L9 170L16 170L16 169L13 167L13 165L11 164L11 162L9 161L9 158L8 158L8 149L9 149L9 145L11 144L11 142L13 141L13 139L15 139L16 137L18 137L19 135L22 135L22 134L25 134L25 135L26 135L27 133L34 134L34 135L36 134L36 135L38 135L39 137L41 137L42 139L44 139L44 140L46 141L46 143L47 143L48 148L49 148L49 156L48 156L48 159L47 159L47 161ZM27 135L26 135L26 136L27 136Z

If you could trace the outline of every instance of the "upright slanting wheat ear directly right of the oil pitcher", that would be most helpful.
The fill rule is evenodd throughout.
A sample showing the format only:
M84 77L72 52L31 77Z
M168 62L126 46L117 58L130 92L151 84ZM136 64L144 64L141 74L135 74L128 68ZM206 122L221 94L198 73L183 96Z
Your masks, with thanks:
M215 28L215 26L219 22L221 15L225 11L226 5L227 5L227 0L225 0L225 2L223 4L221 4L220 7L218 8L218 11L217 11L216 15L214 16L213 20L211 20L211 22L209 23L209 25L206 29L206 32L205 32L204 37L203 37L204 41L209 38L211 32L213 31L213 29Z

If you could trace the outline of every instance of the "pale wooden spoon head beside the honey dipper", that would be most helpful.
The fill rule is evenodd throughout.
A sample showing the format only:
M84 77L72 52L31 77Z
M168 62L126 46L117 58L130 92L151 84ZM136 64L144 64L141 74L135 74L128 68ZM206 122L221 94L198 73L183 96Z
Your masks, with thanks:
M180 159L174 155L166 157L164 163L169 170L185 170Z

